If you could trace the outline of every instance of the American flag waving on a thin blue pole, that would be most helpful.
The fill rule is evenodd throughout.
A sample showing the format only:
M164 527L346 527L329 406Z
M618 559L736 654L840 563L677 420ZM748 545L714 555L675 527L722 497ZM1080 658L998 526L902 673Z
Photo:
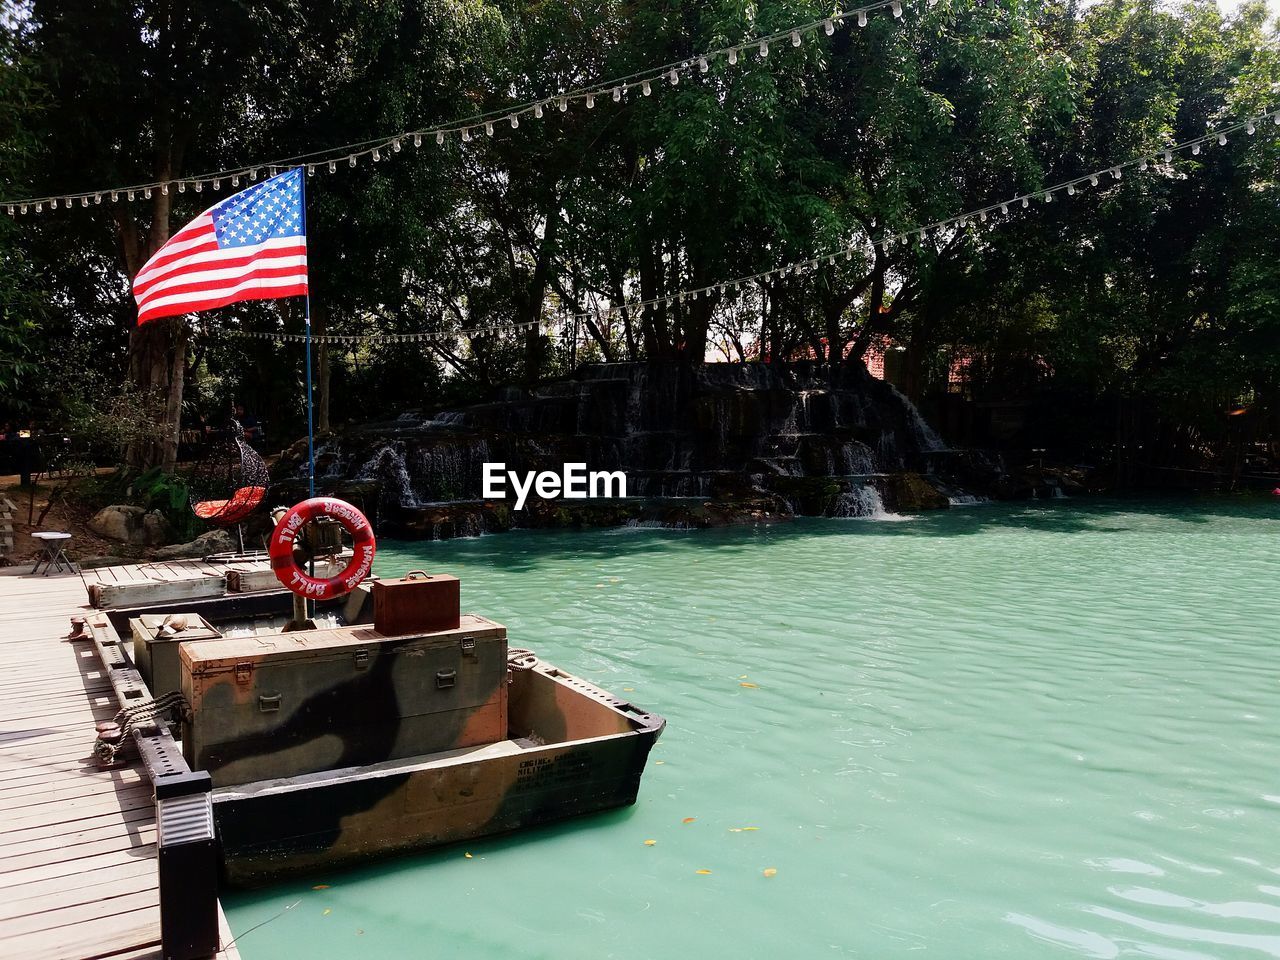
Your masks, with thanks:
M306 292L301 169L209 207L173 234L133 279L140 324Z

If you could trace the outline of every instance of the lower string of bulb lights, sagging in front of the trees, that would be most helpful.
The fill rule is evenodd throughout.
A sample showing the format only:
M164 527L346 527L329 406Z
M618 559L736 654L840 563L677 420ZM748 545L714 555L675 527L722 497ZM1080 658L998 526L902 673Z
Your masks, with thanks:
M781 266L776 266L771 270L764 270L756 274L749 274L744 276L736 276L730 280L721 280L718 283L708 284L705 287L690 287L675 293L653 297L649 300L630 300L621 303L614 303L608 307L589 310L570 314L567 321L581 321L581 320L599 320L604 319L612 321L621 316L623 311L628 311L631 315L643 316L645 310L657 307L671 307L677 303L684 303L685 301L695 301L700 297L713 297L723 296L724 293L740 291L744 285L769 280L774 278L787 276L787 275L803 275L814 273L824 266L836 266L841 261L850 261L854 259L855 253L869 253L873 248L879 247L884 250L886 247L895 243L904 242L925 242L931 236L946 234L948 230L961 230L966 229L973 224L996 224L1002 218L1009 219L1016 215L1021 210L1027 210L1032 204L1051 204L1057 196L1075 196L1083 193L1091 188L1100 188L1103 186L1115 186L1119 180L1124 178L1126 170L1134 170L1137 173L1148 173L1152 170L1169 170L1175 156L1190 155L1199 156L1204 152L1206 147L1217 148L1224 147L1230 142L1230 138L1235 134L1244 132L1251 140L1249 142L1258 142L1254 137L1260 131L1271 136L1280 134L1280 109L1267 109L1263 113L1251 116L1245 120L1239 120L1236 123L1219 127L1207 132L1202 137L1194 137L1192 140L1185 140L1179 143L1170 143L1158 150L1147 151L1132 160L1125 160L1123 163L1111 164L1108 166L1098 168L1091 173L1080 174L1071 179L1061 180L1047 187L1038 187L1033 191L1025 193L1018 193L1007 200L997 201L995 204L988 204L987 206L975 207L968 210L956 216L950 216L945 220L934 220L933 223L922 224L919 227L911 227L906 230L899 230L896 233L882 234L878 238L861 238L856 242L841 246L838 248L828 250L818 256L809 257L806 260L795 260ZM369 334L369 335L323 335L312 337L314 340L320 343L338 343L338 344L355 344L355 343L413 343L413 342L431 342L431 340L447 340L458 337L470 337L489 332L500 330L525 330L536 326L536 321L525 324L494 324L489 326L475 326L462 330L434 330L422 333L410 333L410 334ZM284 333L252 333L243 330L228 332L234 337L257 337L265 339L276 340L302 340L303 334L284 334Z

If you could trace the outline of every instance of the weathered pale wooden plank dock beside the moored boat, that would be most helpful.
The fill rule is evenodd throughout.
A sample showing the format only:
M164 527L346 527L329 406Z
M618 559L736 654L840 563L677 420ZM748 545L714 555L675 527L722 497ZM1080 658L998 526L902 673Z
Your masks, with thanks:
M198 562L87 572L178 590L225 571ZM93 724L116 712L92 643L73 616L104 620L76 573L0 570L0 955L6 960L161 957L155 801L140 763L100 771ZM204 582L204 586L197 584ZM164 588L161 588L164 589ZM192 594L187 594L191 596ZM207 594L196 594L207 595ZM160 596L159 599L168 599ZM177 599L177 598L174 598ZM238 956L221 920L223 952ZM229 946L228 946L229 945Z

